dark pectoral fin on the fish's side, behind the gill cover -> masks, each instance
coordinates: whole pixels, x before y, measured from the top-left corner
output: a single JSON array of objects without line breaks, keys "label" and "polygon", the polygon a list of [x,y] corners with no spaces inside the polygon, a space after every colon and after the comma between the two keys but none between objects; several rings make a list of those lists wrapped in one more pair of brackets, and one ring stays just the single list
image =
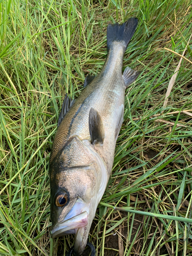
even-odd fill
[{"label": "dark pectoral fin on the fish's side, behind the gill cover", "polygon": [[92,144],[103,143],[104,140],[104,127],[99,113],[91,108],[89,113],[89,132]]}]

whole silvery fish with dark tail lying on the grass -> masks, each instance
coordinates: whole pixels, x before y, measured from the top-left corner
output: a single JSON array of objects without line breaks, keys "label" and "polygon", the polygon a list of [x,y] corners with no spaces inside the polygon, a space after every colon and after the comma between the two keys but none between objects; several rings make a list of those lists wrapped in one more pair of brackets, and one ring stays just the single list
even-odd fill
[{"label": "whole silvery fish with dark tail lying on the grass", "polygon": [[97,206],[108,184],[123,122],[125,89],[138,77],[123,56],[137,28],[132,17],[107,28],[108,55],[96,76],[88,75],[77,99],[65,96],[49,165],[51,237],[75,234],[81,255]]}]

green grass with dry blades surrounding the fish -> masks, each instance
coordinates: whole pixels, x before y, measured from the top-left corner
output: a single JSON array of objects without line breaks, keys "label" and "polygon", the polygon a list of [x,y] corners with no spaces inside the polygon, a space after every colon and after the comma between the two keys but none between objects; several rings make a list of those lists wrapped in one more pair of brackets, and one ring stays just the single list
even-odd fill
[{"label": "green grass with dry blades surrounding the fish", "polygon": [[50,238],[48,168],[59,111],[65,94],[78,97],[84,78],[102,68],[107,25],[133,16],[139,25],[123,69],[141,75],[126,90],[113,172],[89,241],[97,255],[192,255],[191,7],[188,0],[0,0],[0,255],[60,256],[73,245],[73,236]]}]

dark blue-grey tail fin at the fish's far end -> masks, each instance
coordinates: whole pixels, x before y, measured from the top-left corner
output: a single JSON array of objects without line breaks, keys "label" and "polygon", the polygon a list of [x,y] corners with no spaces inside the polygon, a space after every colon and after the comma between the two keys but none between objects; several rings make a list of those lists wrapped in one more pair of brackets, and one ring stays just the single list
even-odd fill
[{"label": "dark blue-grey tail fin at the fish's far end", "polygon": [[130,18],[122,25],[119,25],[118,23],[109,24],[106,32],[106,39],[108,41],[108,51],[111,48],[112,42],[114,41],[122,41],[126,50],[127,45],[129,44],[132,36],[135,33],[137,24],[137,18]]}]

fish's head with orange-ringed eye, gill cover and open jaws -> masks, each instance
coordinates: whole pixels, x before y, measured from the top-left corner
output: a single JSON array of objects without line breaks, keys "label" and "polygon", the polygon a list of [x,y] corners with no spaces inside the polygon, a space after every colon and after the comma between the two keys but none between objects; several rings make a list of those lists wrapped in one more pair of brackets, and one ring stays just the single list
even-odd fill
[{"label": "fish's head with orange-ringed eye, gill cover and open jaws", "polygon": [[76,138],[50,164],[52,238],[75,233],[77,255],[86,247],[98,205],[98,169],[95,158]]}]

